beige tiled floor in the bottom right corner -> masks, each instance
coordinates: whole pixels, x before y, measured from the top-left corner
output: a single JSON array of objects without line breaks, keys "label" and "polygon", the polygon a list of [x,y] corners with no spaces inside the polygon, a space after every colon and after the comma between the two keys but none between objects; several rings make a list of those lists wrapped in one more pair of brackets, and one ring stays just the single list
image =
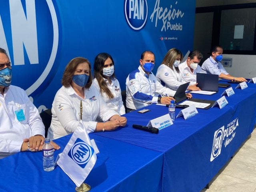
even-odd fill
[{"label": "beige tiled floor in the bottom right corner", "polygon": [[256,192],[256,129],[201,192]]}]

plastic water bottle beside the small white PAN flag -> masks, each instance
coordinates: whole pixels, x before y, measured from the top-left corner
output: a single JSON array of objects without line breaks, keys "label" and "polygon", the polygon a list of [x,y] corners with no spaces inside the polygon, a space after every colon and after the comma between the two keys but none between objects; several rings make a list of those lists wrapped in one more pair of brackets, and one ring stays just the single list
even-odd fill
[{"label": "plastic water bottle beside the small white PAN flag", "polygon": [[54,170],[54,149],[49,138],[45,138],[43,145],[43,167],[45,171]]}]

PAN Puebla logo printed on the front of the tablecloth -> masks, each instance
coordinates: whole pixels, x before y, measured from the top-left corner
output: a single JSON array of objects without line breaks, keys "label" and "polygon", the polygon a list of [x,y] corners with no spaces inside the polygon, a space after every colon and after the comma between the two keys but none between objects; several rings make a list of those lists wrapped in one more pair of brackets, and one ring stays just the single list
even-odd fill
[{"label": "PAN Puebla logo printed on the front of the tablecloth", "polygon": [[236,128],[239,126],[238,118],[234,119],[232,122],[227,124],[227,128],[222,126],[214,132],[214,138],[212,142],[212,153],[210,161],[212,162],[216,157],[220,155],[222,144],[224,142],[224,147],[228,146],[232,142],[233,138],[236,136]]}]

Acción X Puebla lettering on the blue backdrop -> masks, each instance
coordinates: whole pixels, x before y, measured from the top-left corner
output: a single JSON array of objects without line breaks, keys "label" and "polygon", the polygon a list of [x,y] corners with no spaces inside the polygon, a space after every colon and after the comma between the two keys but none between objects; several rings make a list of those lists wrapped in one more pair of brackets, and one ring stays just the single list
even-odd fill
[{"label": "Acci\u00f3n X Puebla lettering on the blue backdrop", "polygon": [[[184,12],[179,10],[176,6],[178,1],[175,2],[175,5],[170,5],[170,8],[160,7],[160,0],[156,0],[154,11],[150,15],[151,22],[154,22],[155,18],[155,27],[157,27],[158,20],[162,21],[161,31],[166,30],[178,30],[182,31],[182,24],[175,22],[175,19],[182,18]],[[177,9],[177,10],[176,10]]]}]

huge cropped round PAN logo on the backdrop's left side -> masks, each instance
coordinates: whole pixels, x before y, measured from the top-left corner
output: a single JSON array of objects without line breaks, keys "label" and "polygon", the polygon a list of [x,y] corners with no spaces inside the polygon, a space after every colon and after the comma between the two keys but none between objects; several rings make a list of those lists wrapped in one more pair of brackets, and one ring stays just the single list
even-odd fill
[{"label": "huge cropped round PAN logo on the backdrop's left side", "polygon": [[[1,1],[0,47],[12,62],[13,84],[32,94],[53,68],[58,20],[52,0]],[[48,77],[49,78],[49,77]]]}]

